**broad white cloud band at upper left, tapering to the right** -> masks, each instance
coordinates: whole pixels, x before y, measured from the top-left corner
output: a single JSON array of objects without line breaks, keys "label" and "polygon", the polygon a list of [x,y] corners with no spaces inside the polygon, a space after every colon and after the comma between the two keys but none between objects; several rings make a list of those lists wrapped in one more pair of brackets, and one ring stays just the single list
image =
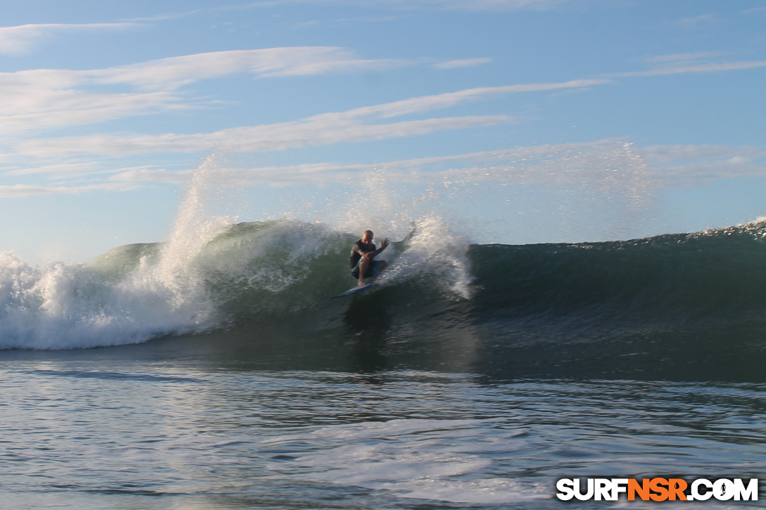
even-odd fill
[{"label": "broad white cloud band at upper left, tapering to the right", "polygon": [[[193,54],[102,70],[0,73],[0,134],[206,106],[210,100],[189,100],[178,94],[178,88],[228,74],[286,77],[379,70],[404,64],[401,60],[360,59],[339,47],[277,47]],[[93,90],[120,84],[138,90]]]}]

